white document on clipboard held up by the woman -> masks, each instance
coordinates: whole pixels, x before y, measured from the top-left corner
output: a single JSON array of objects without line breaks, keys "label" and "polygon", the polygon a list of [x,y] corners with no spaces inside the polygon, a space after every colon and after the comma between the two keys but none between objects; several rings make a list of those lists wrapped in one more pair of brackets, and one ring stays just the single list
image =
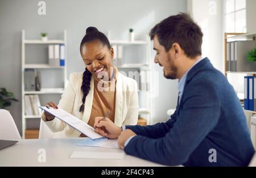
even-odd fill
[{"label": "white document on clipboard held up by the woman", "polygon": [[102,137],[100,134],[94,132],[93,127],[89,126],[84,121],[81,121],[79,118],[71,115],[71,113],[68,113],[61,108],[58,108],[58,109],[47,108],[47,107],[39,107],[39,108],[51,113],[51,115],[59,118],[61,121],[65,122],[66,124],[78,130],[79,132],[85,134],[90,139],[96,140],[96,139],[105,138],[105,137]]}]

